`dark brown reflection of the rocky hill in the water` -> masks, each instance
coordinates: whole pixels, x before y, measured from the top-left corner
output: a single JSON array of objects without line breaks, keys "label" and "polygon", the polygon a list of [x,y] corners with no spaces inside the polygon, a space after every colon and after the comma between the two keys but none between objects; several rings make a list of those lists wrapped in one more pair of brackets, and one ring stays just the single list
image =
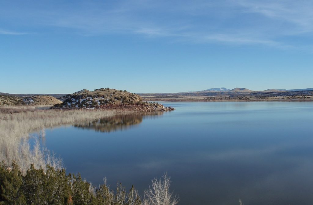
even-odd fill
[{"label": "dark brown reflection of the rocky hill in the water", "polygon": [[[153,113],[149,118],[157,117],[162,113]],[[146,115],[146,114],[145,114]],[[100,118],[89,122],[74,124],[76,128],[94,129],[99,132],[125,130],[142,122],[143,115],[116,115],[109,118]]]}]

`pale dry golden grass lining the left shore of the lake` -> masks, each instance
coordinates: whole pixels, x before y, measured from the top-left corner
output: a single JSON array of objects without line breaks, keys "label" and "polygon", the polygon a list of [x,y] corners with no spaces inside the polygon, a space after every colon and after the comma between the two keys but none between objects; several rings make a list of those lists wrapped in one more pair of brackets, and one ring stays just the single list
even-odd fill
[{"label": "pale dry golden grass lining the left shore of the lake", "polygon": [[[30,164],[36,168],[45,167],[49,163],[55,168],[61,168],[60,159],[53,154],[44,155],[39,144],[31,149],[28,143],[29,133],[38,132],[44,135],[44,129],[68,123],[110,117],[116,111],[111,110],[29,110],[29,107],[18,108],[19,113],[0,113],[0,161],[10,165],[13,161],[18,163],[25,172]],[[130,112],[120,112],[130,113]]]}]

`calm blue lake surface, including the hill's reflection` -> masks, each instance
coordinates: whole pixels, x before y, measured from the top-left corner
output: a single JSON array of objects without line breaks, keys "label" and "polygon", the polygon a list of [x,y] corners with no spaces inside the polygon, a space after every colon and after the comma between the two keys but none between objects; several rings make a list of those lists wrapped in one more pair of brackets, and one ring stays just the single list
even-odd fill
[{"label": "calm blue lake surface, including the hill's reflection", "polygon": [[171,176],[179,204],[313,204],[313,103],[162,102],[176,108],[46,130],[67,172],[141,193]]}]

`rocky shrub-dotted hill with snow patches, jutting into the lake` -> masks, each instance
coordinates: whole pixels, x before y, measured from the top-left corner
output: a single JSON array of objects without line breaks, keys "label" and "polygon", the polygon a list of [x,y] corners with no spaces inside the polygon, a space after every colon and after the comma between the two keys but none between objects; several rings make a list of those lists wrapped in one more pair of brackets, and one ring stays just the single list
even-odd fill
[{"label": "rocky shrub-dotted hill with snow patches, jutting into the lake", "polygon": [[63,103],[54,105],[55,108],[129,108],[153,110],[172,110],[158,103],[143,102],[142,98],[126,90],[100,88],[94,91],[80,90],[59,98]]}]

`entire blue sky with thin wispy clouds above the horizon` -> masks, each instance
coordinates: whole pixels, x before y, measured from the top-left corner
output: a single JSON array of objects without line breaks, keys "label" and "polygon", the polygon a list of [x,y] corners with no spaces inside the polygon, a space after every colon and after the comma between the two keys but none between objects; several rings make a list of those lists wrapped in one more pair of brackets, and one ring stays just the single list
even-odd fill
[{"label": "entire blue sky with thin wispy clouds above the horizon", "polygon": [[0,92],[311,88],[313,1],[0,1]]}]

